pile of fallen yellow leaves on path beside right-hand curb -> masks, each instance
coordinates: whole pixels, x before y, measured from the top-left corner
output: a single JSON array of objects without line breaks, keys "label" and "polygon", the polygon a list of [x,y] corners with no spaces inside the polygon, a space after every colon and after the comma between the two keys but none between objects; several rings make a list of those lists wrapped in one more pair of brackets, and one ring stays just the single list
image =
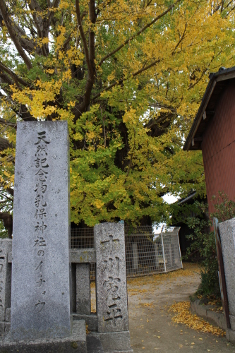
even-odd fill
[{"label": "pile of fallen yellow leaves on path beside right-hand curb", "polygon": [[[175,316],[171,318],[174,323],[184,323],[189,328],[193,328],[194,330],[199,330],[204,333],[212,333],[216,336],[225,335],[225,332],[221,328],[210,325],[210,323],[207,323],[207,321],[191,313],[189,301],[181,301],[179,303],[173,304],[169,308],[169,311],[175,313]],[[199,338],[199,340],[202,339]]]}]

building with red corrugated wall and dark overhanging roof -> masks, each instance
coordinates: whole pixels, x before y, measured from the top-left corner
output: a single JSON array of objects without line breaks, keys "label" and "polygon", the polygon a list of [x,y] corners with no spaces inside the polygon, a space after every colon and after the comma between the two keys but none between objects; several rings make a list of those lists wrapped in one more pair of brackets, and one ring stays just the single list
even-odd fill
[{"label": "building with red corrugated wall and dark overhanging roof", "polygon": [[235,66],[210,74],[183,150],[202,150],[209,213],[212,196],[235,200]]}]

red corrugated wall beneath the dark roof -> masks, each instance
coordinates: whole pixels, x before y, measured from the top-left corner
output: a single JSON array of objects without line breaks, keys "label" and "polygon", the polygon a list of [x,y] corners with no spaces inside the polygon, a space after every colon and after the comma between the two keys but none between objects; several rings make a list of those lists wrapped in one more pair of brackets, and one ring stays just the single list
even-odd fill
[{"label": "red corrugated wall beneath the dark roof", "polygon": [[219,98],[215,115],[203,134],[202,150],[211,213],[211,199],[218,191],[235,201],[235,85],[229,85]]}]

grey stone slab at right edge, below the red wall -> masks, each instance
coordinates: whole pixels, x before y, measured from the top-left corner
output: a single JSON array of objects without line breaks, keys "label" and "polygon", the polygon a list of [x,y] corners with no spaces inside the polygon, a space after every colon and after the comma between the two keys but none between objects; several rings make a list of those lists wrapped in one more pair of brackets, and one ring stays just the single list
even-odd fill
[{"label": "grey stone slab at right edge, below the red wall", "polygon": [[229,312],[235,316],[235,218],[218,224],[229,300]]}]

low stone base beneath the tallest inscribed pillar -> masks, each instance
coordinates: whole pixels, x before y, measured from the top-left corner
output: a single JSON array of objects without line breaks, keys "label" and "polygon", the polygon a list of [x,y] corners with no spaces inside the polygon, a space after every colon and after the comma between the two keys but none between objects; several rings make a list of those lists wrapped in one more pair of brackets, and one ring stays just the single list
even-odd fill
[{"label": "low stone base beneath the tallest inscribed pillar", "polygon": [[72,334],[64,338],[14,342],[9,333],[0,340],[0,353],[87,353],[85,321],[73,322]]}]

